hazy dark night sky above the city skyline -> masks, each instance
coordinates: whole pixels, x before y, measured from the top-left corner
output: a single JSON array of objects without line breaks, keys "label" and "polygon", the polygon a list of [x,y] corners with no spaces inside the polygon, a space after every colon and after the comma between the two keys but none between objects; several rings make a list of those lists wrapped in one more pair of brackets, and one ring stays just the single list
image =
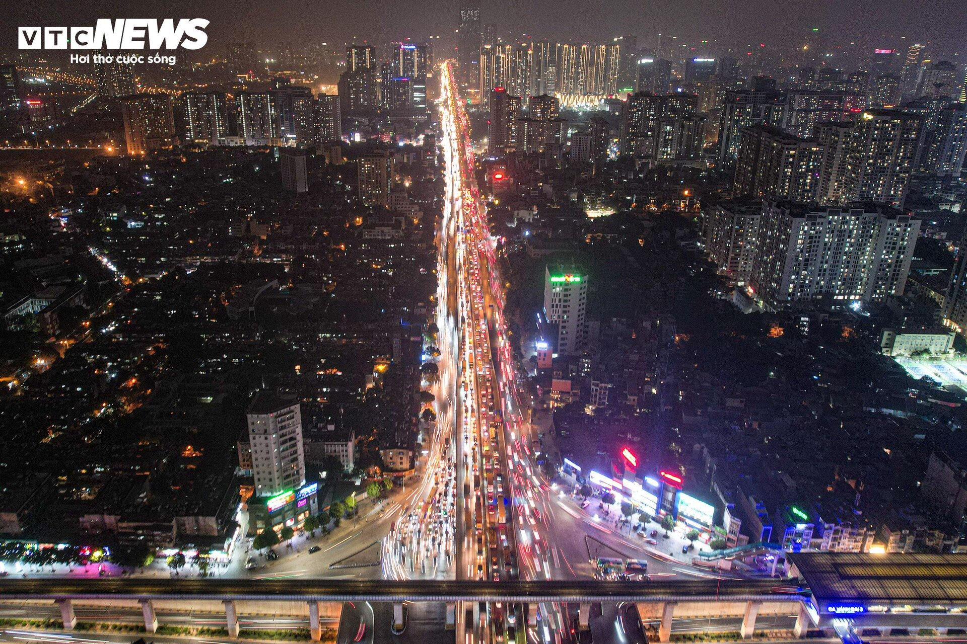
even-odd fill
[{"label": "hazy dark night sky above the city skyline", "polygon": [[[648,45],[659,32],[671,32],[686,42],[783,46],[819,27],[830,42],[896,45],[896,37],[906,36],[933,42],[949,56],[967,54],[967,0],[483,0],[482,13],[505,37],[513,31],[514,37],[604,41],[630,33]],[[210,46],[218,47],[240,40],[264,46],[431,35],[452,46],[457,0],[37,0],[5,3],[4,14],[4,48],[15,47],[17,25],[92,24],[97,17],[205,17],[212,20]]]}]

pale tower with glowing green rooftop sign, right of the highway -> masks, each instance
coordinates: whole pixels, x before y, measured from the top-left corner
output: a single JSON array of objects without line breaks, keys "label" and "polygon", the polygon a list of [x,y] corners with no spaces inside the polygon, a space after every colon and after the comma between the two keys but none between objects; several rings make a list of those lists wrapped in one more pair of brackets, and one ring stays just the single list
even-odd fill
[{"label": "pale tower with glowing green rooftop sign, right of the highway", "polygon": [[544,268],[543,314],[557,326],[558,355],[574,355],[584,346],[584,310],[588,276],[572,266]]}]

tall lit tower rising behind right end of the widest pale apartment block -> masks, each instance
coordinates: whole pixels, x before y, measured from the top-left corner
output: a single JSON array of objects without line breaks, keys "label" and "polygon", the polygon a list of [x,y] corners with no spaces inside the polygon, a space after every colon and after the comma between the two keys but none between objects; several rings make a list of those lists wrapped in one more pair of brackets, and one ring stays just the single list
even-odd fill
[{"label": "tall lit tower rising behind right end of the widest pale apartment block", "polygon": [[850,137],[840,203],[902,204],[917,160],[922,126],[923,117],[918,114],[866,110]]}]

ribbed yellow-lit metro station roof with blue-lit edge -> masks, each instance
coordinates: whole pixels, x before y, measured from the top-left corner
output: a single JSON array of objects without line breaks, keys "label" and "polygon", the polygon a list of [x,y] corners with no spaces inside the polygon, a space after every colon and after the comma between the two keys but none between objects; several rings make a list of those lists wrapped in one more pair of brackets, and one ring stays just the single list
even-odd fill
[{"label": "ribbed yellow-lit metro station roof with blue-lit edge", "polygon": [[823,609],[831,602],[967,603],[967,554],[790,552]]}]

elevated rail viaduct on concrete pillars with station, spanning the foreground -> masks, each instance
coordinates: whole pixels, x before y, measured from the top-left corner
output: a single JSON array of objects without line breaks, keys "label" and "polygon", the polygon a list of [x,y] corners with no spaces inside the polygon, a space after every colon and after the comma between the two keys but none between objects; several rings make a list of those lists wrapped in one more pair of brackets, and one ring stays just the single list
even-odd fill
[{"label": "elevated rail viaduct on concrete pillars with station, spanning the foreground", "polygon": [[[238,635],[239,607],[281,606],[308,612],[318,639],[320,618],[339,615],[342,602],[394,604],[395,624],[403,602],[447,604],[448,623],[464,603],[478,609],[488,602],[530,606],[536,619],[540,602],[579,604],[578,625],[586,628],[593,602],[633,602],[642,619],[659,622],[659,640],[668,641],[676,617],[741,615],[741,632],[750,637],[757,615],[796,614],[794,634],[810,628],[847,625],[863,629],[967,630],[967,555],[788,553],[793,580],[689,579],[681,581],[570,580],[357,580],[220,578],[44,578],[0,580],[0,602],[56,603],[66,629],[73,629],[73,602],[110,602],[138,606],[145,629],[158,628],[156,605],[189,612],[205,604],[224,610],[228,633]],[[252,607],[255,607],[253,609]],[[862,633],[861,633],[862,634]]]}]

